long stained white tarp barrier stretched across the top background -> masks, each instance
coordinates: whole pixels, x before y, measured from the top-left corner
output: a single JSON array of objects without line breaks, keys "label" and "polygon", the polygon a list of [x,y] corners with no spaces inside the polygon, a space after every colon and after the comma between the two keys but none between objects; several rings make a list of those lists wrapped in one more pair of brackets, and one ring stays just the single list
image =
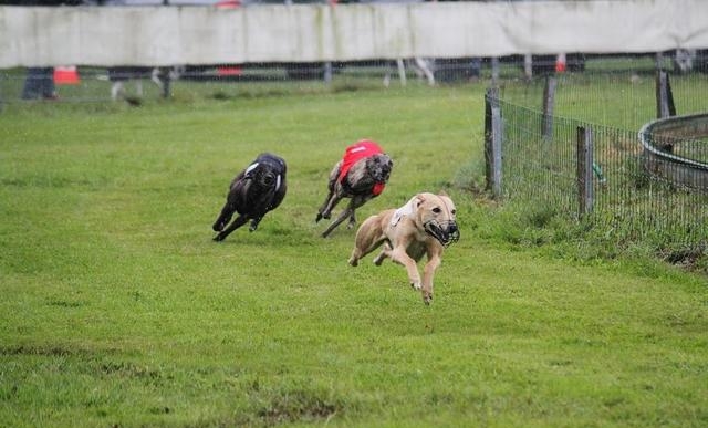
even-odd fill
[{"label": "long stained white tarp barrier stretched across the top background", "polygon": [[0,7],[0,67],[708,48],[706,0]]}]

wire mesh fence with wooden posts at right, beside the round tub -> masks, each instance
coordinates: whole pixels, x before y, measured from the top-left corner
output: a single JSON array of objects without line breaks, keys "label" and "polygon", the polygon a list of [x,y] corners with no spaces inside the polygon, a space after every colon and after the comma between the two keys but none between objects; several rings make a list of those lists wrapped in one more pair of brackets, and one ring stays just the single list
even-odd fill
[{"label": "wire mesh fence with wooden posts at right, beside the round tub", "polygon": [[504,82],[488,95],[488,116],[500,122],[487,122],[489,188],[512,203],[583,217],[621,240],[705,249],[708,116],[695,113],[708,111],[708,76],[673,74],[671,108],[694,115],[655,123],[656,76],[652,66]]}]

